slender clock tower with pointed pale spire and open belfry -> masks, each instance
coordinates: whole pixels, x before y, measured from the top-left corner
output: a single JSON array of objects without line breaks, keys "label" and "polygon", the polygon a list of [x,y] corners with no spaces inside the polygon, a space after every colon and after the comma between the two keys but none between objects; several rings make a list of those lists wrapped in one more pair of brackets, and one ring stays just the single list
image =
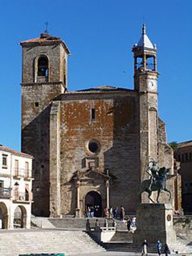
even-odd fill
[{"label": "slender clock tower with pointed pale spire and open belfry", "polygon": [[[156,46],[149,40],[145,24],[138,44],[132,48],[135,90],[139,93],[140,180],[149,179],[147,172],[150,159],[157,160],[157,58]],[[142,195],[141,203],[148,203]]]}]

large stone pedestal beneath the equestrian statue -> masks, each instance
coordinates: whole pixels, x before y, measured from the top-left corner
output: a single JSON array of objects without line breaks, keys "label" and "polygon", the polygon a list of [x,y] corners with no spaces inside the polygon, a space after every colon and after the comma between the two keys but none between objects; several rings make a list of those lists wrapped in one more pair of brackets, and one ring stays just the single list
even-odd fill
[{"label": "large stone pedestal beneath the equestrian statue", "polygon": [[170,204],[140,204],[136,214],[137,229],[133,244],[141,246],[146,239],[149,244],[160,240],[168,246],[176,243],[173,229],[173,208]]}]

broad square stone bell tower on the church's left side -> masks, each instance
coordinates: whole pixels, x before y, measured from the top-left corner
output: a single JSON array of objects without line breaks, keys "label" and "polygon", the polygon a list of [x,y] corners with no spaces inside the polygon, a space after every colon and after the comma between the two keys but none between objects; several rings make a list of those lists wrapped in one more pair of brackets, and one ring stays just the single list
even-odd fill
[{"label": "broad square stone bell tower on the church's left side", "polygon": [[49,216],[49,114],[68,83],[66,44],[43,33],[22,46],[22,151],[34,156],[32,212]]}]

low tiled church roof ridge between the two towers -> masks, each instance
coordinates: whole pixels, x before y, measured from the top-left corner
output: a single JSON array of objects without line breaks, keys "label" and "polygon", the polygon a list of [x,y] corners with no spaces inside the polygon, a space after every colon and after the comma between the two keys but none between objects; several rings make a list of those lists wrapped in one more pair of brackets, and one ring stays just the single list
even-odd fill
[{"label": "low tiled church roof ridge between the two towers", "polygon": [[84,89],[84,90],[75,90],[72,92],[67,92],[67,93],[72,93],[72,94],[78,94],[78,93],[105,93],[105,92],[130,92],[133,91],[131,89],[126,89],[126,88],[120,88],[120,87],[114,87],[110,85],[102,85],[98,87],[93,87],[89,89]]}]

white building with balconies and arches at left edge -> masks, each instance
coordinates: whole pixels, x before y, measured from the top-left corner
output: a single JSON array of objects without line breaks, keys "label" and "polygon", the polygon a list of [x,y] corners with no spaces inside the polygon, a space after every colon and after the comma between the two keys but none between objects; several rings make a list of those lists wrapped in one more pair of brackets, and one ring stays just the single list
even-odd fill
[{"label": "white building with balconies and arches at left edge", "polygon": [[30,228],[33,156],[0,145],[0,228]]}]

